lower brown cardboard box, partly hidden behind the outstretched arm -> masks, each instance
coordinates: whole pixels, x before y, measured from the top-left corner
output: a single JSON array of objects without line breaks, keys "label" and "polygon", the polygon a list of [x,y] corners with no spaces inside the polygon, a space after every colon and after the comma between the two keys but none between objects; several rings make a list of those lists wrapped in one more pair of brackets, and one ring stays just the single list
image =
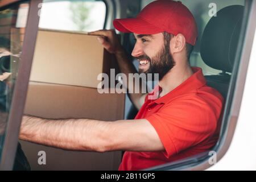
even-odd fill
[{"label": "lower brown cardboard box, partly hidden behind the outstretched arm", "polygon": [[[31,82],[24,114],[115,121],[123,119],[124,105],[125,94],[100,94],[94,88]],[[32,170],[117,170],[122,159],[121,151],[68,151],[31,142],[20,143]],[[46,152],[47,165],[38,164],[39,151]]]}]

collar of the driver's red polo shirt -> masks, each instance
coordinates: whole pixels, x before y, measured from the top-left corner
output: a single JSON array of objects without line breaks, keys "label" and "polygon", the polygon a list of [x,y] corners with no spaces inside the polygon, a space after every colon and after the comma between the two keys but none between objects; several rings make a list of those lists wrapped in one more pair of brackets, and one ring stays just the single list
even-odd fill
[{"label": "collar of the driver's red polo shirt", "polygon": [[[179,86],[177,86],[175,89],[171,90],[171,92],[167,93],[163,97],[160,97],[156,100],[150,100],[151,102],[155,102],[156,104],[166,103],[171,98],[174,98],[176,96],[179,96],[184,93],[188,93],[191,90],[196,90],[201,88],[206,84],[206,80],[204,78],[202,69],[199,67],[192,67],[192,71],[194,72],[191,77],[189,77],[187,80],[182,82]],[[156,85],[154,90],[152,90],[151,93],[148,95],[154,95],[158,94],[158,90],[162,90],[162,88],[159,85]]]}]

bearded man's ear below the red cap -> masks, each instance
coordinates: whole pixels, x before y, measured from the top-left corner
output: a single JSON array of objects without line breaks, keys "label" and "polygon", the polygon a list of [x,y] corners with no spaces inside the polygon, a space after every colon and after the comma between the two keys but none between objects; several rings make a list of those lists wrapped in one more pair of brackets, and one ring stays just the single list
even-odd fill
[{"label": "bearded man's ear below the red cap", "polygon": [[170,41],[171,53],[181,52],[185,49],[186,40],[182,34],[175,35]]}]

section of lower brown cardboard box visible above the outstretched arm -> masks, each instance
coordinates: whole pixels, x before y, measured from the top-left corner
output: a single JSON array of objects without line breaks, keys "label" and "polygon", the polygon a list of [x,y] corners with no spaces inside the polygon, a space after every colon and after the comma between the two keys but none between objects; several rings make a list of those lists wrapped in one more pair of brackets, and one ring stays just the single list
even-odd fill
[{"label": "section of lower brown cardboard box visible above the outstretched arm", "polygon": [[43,118],[123,119],[125,94],[100,94],[81,86],[30,82],[24,114]]}]

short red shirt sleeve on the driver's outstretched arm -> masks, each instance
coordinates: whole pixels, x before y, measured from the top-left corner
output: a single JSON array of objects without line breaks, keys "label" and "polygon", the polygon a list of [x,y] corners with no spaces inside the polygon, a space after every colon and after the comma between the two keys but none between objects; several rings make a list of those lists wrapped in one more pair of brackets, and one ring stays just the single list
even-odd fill
[{"label": "short red shirt sleeve on the driver's outstretched arm", "polygon": [[220,108],[200,98],[187,98],[165,104],[147,119],[158,133],[165,148],[164,155],[170,158],[189,147],[199,144],[213,135],[217,127]]}]

